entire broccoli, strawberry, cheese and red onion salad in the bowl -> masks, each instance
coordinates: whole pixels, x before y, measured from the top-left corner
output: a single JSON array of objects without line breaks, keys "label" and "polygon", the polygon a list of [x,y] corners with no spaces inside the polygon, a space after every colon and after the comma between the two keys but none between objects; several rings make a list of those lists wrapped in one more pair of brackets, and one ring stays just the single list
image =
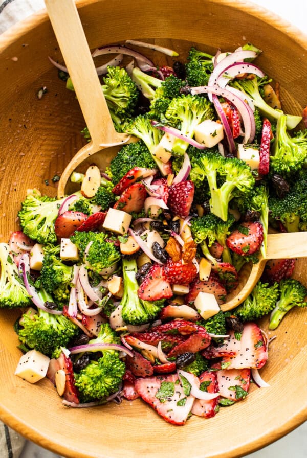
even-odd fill
[{"label": "entire broccoli, strawberry, cheese and red onion salad in the bowl", "polygon": [[250,43],[215,56],[191,48],[186,61],[153,48],[173,66],[126,45],[95,51],[116,55],[97,71],[131,143],[105,172],[73,172],[72,195],[28,192],[21,230],[0,243],[0,307],[21,309],[17,376],[47,376],[67,406],[140,397],[184,425],[244,400],[251,382],[268,386],[257,320],[275,330],[307,305],[295,260],[280,259],[223,311],[240,269],[265,256],[269,228],[307,229],[306,113],[283,112]]}]

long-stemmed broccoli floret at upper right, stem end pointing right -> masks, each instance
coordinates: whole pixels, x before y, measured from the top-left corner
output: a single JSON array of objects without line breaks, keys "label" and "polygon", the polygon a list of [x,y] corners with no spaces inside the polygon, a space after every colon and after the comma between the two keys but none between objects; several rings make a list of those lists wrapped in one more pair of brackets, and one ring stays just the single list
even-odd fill
[{"label": "long-stemmed broccoli floret at upper right, stem end pointing right", "polygon": [[[280,118],[280,116],[282,116],[283,112],[281,110],[272,108],[261,97],[261,94],[260,94],[261,87],[265,84],[268,84],[267,77],[265,78],[255,77],[253,79],[233,80],[230,83],[231,86],[234,86],[235,88],[239,90],[242,90],[245,94],[251,97],[255,106],[259,109],[262,116],[265,116],[270,121],[277,121]],[[286,121],[287,128],[294,129],[294,127],[296,127],[301,120],[302,120],[301,116],[294,116],[292,114],[287,114],[287,121]]]}]

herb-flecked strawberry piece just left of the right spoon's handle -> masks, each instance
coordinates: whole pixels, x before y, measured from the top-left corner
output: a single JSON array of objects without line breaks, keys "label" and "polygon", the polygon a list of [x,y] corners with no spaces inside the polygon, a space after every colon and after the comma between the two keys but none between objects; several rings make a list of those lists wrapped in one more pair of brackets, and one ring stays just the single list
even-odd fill
[{"label": "herb-flecked strawberry piece just left of the right spoon's handle", "polygon": [[264,240],[264,228],[258,221],[245,221],[226,239],[226,244],[241,256],[256,253]]}]

